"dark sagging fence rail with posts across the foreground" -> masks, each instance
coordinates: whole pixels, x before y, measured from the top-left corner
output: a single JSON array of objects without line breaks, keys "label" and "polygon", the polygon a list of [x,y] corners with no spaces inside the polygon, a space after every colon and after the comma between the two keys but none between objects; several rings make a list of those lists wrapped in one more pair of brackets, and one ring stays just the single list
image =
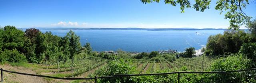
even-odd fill
[{"label": "dark sagging fence rail with posts across the foreground", "polygon": [[4,79],[3,79],[3,71],[4,71],[4,72],[9,72],[9,73],[21,74],[21,75],[30,75],[30,76],[36,76],[36,77],[47,77],[47,78],[63,79],[63,80],[90,80],[90,79],[94,79],[95,83],[97,83],[97,79],[102,79],[102,78],[178,74],[178,83],[180,83],[180,73],[198,73],[198,74],[202,74],[202,73],[233,73],[233,72],[256,70],[256,68],[244,69],[244,70],[236,70],[236,71],[209,71],[209,72],[207,72],[207,71],[203,71],[203,72],[178,71],[178,72],[168,72],[168,73],[128,74],[128,75],[112,75],[112,76],[88,77],[88,78],[62,78],[62,77],[52,77],[52,76],[46,76],[46,75],[36,75],[36,74],[29,74],[29,73],[20,73],[20,72],[15,72],[15,71],[4,70],[2,68],[0,70],[1,70],[1,81],[0,82],[4,81]]}]

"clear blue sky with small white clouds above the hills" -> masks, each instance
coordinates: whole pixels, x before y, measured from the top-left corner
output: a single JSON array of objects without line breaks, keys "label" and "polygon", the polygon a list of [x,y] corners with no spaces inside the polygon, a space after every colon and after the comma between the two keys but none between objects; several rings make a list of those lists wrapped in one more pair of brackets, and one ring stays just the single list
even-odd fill
[{"label": "clear blue sky with small white clouds above the hills", "polygon": [[[194,0],[191,0],[194,4]],[[256,4],[244,12],[256,18]],[[16,28],[228,28],[229,20],[215,10],[143,4],[140,0],[0,0],[0,26]],[[242,26],[241,28],[244,28]]]}]

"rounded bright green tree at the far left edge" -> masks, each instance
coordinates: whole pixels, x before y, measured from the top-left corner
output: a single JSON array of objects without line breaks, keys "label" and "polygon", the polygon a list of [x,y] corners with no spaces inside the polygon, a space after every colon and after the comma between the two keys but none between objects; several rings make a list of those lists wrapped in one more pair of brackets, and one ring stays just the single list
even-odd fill
[{"label": "rounded bright green tree at the far left edge", "polygon": [[5,26],[0,29],[0,62],[26,61],[24,55],[24,32],[14,26]]}]

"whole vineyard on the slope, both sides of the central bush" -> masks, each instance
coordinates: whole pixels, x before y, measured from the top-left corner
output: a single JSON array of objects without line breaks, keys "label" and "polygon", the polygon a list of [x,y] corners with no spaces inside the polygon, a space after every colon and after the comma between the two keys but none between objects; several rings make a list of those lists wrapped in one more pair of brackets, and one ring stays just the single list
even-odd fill
[{"label": "whole vineyard on the slope, both sides of the central bush", "polygon": [[[176,59],[175,61],[134,61],[130,65],[135,67],[134,74],[156,73],[159,70],[181,71],[186,67],[188,71],[205,71],[215,59],[205,56]],[[91,77],[95,76],[100,69],[107,68],[108,59],[82,59],[76,61],[57,62],[51,65],[40,65],[41,75],[54,77]],[[49,79],[52,80],[52,79]],[[78,83],[80,82],[77,80]]]}]

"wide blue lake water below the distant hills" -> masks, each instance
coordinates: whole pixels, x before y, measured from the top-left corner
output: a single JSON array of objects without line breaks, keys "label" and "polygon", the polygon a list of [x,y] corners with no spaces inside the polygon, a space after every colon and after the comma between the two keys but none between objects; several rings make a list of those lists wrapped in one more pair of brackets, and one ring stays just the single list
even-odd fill
[{"label": "wide blue lake water below the distant hills", "polygon": [[[66,36],[70,30],[40,30],[54,35]],[[94,51],[122,49],[132,52],[150,52],[174,49],[184,51],[187,47],[200,49],[210,35],[223,34],[224,30],[73,30],[84,45],[91,43]],[[87,40],[86,40],[87,39]]]}]

